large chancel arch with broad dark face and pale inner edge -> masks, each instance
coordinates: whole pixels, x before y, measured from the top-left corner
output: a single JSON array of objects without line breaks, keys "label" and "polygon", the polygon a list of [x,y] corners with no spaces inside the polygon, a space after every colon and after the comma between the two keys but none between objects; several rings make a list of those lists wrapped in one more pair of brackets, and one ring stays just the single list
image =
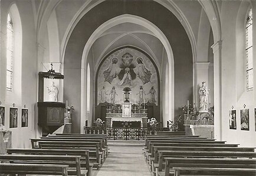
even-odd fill
[{"label": "large chancel arch with broad dark face and pale inner edge", "polygon": [[[168,55],[170,63],[169,75],[170,77],[172,77],[172,79],[170,79],[172,80],[172,83],[170,83],[172,87],[172,94],[174,95],[175,89],[182,89],[182,92],[179,91],[175,93],[176,95],[173,96],[173,102],[170,103],[170,107],[171,109],[173,109],[172,113],[174,114],[174,116],[178,116],[180,111],[179,107],[185,103],[182,100],[183,98],[192,101],[193,56],[191,43],[189,42],[189,38],[187,33],[185,32],[185,29],[183,28],[182,24],[180,24],[179,20],[173,15],[172,12],[170,12],[168,9],[158,4],[157,2],[147,1],[146,4],[140,3],[142,2],[101,2],[101,4],[95,6],[90,11],[88,11],[83,16],[83,18],[80,19],[76,27],[73,29],[73,32],[71,33],[70,38],[68,39],[64,56],[64,99],[69,99],[71,102],[74,101],[74,106],[78,107],[78,109],[74,113],[74,116],[84,118],[82,112],[83,110],[80,107],[81,99],[74,99],[70,91],[71,89],[73,90],[75,88],[78,92],[82,92],[80,82],[81,79],[74,80],[72,79],[72,77],[81,77],[81,70],[86,68],[84,67],[84,63],[86,63],[84,61],[87,58],[87,53],[90,51],[90,45],[93,44],[93,40],[97,39],[95,36],[93,36],[94,34],[96,35],[95,31],[97,31],[100,25],[104,22],[114,19],[116,16],[121,17],[120,15],[132,15],[136,16],[137,19],[146,19],[146,21],[150,22],[151,25],[149,25],[149,23],[145,23],[145,21],[143,22],[142,20],[140,20],[139,22],[143,22],[143,25],[145,24],[146,28],[149,27],[151,29],[154,29],[156,33],[159,33],[159,31],[161,31],[162,34],[164,34],[158,35],[157,37],[162,41],[163,46],[165,46],[166,53]],[[137,8],[139,8],[137,9],[137,11],[133,11],[134,5],[136,5]],[[124,6],[126,6],[125,9],[123,8]],[[107,9],[109,9],[108,7],[114,7],[116,11],[107,11]],[[154,9],[152,9],[153,7]],[[159,19],[165,19],[165,23],[161,23],[154,18],[151,12],[155,11],[156,9],[160,12]],[[93,15],[95,13],[99,13],[99,15]],[[166,18],[166,16],[169,17]],[[133,21],[136,18],[133,18]],[[118,20],[119,19],[116,19],[116,21]],[[97,23],[95,23],[96,21]],[[166,25],[166,23],[172,25],[169,26]],[[87,28],[87,26],[90,26],[90,28]],[[156,30],[156,28],[152,28],[155,26],[159,30]],[[179,33],[176,33],[175,31],[179,31]],[[175,38],[173,38],[173,32],[176,33]],[[84,40],[78,40],[78,38],[83,38]],[[170,46],[172,46],[172,48],[170,48]],[[184,50],[186,50],[186,52],[183,52]],[[172,61],[172,58],[173,60],[175,60],[175,62]],[[183,63],[186,64],[184,65]],[[177,69],[171,69],[172,66],[175,67],[175,65]],[[171,74],[172,72],[173,74]],[[183,79],[184,82],[178,82],[178,79]],[[76,87],[74,87],[74,85]],[[81,97],[83,99],[83,95],[81,95]],[[175,101],[176,103],[174,104]],[[74,125],[80,126],[80,123],[81,119],[76,118],[76,121],[74,121]]]}]

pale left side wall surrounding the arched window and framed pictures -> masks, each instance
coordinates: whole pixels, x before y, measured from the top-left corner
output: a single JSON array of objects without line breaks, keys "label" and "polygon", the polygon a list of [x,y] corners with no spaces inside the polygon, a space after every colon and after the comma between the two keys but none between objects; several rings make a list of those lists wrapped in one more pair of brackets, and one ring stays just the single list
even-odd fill
[{"label": "pale left side wall surrounding the arched window and framed pictures", "polygon": [[[19,57],[20,67],[20,82],[17,86],[14,80],[15,89],[19,89],[19,96],[15,100],[8,99],[6,101],[6,19],[11,4],[16,3],[17,9],[21,19],[22,33],[22,50]],[[29,1],[1,1],[1,83],[0,83],[0,101],[2,106],[5,106],[5,127],[12,131],[12,147],[22,148],[31,147],[29,138],[35,137],[35,123],[34,123],[34,105],[37,102],[37,50],[36,50],[36,35],[34,28],[34,16],[32,12],[32,5]],[[16,47],[16,46],[15,46]],[[17,63],[15,63],[17,64]],[[16,69],[16,68],[14,68]],[[14,70],[14,72],[17,70]],[[15,83],[16,82],[16,83]],[[18,103],[16,103],[18,102]],[[18,107],[18,127],[9,128],[9,107],[12,103]],[[28,127],[21,127],[21,108],[28,109]]]}]

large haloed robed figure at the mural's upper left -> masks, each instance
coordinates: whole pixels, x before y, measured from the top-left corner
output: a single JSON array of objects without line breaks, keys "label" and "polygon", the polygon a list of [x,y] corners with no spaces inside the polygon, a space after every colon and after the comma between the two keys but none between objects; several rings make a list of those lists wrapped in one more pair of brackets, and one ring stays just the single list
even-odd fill
[{"label": "large haloed robed figure at the mural's upper left", "polygon": [[113,81],[114,78],[118,75],[120,72],[119,67],[117,66],[118,59],[114,57],[112,59],[112,63],[109,65],[109,68],[107,70],[104,70],[103,76],[105,78],[105,82],[111,82]]}]

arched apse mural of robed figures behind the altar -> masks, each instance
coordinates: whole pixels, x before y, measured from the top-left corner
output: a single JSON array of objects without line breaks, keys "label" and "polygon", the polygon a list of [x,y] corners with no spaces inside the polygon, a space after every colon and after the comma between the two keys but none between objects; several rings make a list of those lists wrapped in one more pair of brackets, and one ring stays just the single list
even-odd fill
[{"label": "arched apse mural of robed figures behind the altar", "polygon": [[123,48],[112,53],[99,68],[97,104],[123,102],[123,88],[130,87],[132,103],[158,105],[158,80],[152,61],[142,52]]}]

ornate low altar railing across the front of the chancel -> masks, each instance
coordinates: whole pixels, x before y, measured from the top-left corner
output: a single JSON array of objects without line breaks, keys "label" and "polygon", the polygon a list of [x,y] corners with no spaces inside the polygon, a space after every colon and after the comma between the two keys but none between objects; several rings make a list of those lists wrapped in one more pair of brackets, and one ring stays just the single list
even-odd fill
[{"label": "ornate low altar railing across the front of the chancel", "polygon": [[108,134],[112,140],[143,140],[146,134],[155,134],[155,131],[170,131],[170,128],[84,127],[85,134]]}]

